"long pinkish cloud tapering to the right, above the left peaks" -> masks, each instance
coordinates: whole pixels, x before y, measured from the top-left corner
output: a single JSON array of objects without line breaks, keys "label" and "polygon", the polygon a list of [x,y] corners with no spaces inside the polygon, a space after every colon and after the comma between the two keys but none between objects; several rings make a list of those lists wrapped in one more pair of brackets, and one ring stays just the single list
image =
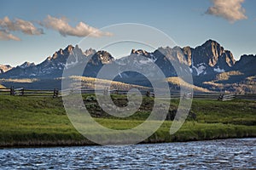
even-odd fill
[{"label": "long pinkish cloud tapering to the right, above the left peaks", "polygon": [[79,22],[75,27],[70,26],[67,22],[67,18],[55,18],[48,15],[43,22],[40,22],[41,26],[59,31],[63,37],[75,36],[75,37],[103,37],[112,36],[109,32],[102,32],[95,27],[88,26],[84,22]]}]

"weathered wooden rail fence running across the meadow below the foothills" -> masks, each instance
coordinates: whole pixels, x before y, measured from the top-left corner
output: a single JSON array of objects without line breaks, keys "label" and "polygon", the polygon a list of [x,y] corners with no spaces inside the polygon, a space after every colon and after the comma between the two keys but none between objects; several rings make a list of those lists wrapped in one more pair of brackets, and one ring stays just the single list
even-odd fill
[{"label": "weathered wooden rail fence running across the meadow below the foothills", "polygon": [[[33,96],[33,97],[52,97],[57,98],[65,96],[68,94],[127,94],[127,90],[113,89],[108,90],[108,88],[93,90],[93,89],[65,89],[59,90],[57,88],[42,90],[42,89],[25,89],[25,88],[0,88],[0,95],[13,95],[13,96]],[[141,94],[145,96],[154,97],[154,92],[141,91]],[[196,93],[196,94],[178,94],[171,93],[171,96],[166,94],[158,94],[158,96],[163,98],[171,99],[218,99],[221,101],[231,100],[231,99],[253,99],[256,100],[256,94],[219,94],[219,93]]]}]

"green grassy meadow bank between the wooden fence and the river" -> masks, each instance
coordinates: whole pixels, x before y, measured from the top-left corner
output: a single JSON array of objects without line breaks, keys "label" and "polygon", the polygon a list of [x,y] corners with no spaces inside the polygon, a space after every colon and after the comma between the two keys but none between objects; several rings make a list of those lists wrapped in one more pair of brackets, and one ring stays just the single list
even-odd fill
[{"label": "green grassy meadow bank between the wooden fence and the river", "polygon": [[[93,95],[84,104],[96,122],[113,129],[129,129],[144,122],[154,99],[145,97],[139,111],[125,118],[109,116]],[[125,95],[113,95],[125,105]],[[167,120],[142,143],[256,137],[256,102],[241,99],[217,101],[194,99],[187,121],[170,135],[178,100],[172,100]],[[79,134],[69,121],[61,98],[0,96],[0,147],[66,146],[94,144]],[[96,132],[95,132],[96,133]]]}]

